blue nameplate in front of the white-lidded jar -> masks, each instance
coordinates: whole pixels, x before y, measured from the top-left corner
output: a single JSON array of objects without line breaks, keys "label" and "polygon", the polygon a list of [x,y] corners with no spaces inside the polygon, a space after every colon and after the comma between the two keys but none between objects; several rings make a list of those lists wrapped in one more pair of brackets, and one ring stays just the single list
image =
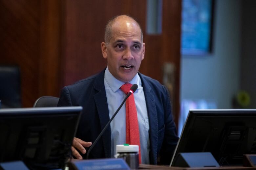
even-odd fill
[{"label": "blue nameplate in front of the white-lidded jar", "polygon": [[[71,166],[70,166],[71,165]],[[123,159],[92,159],[92,160],[72,160],[69,164],[70,170],[100,170],[115,169],[129,170],[130,167]]]}]

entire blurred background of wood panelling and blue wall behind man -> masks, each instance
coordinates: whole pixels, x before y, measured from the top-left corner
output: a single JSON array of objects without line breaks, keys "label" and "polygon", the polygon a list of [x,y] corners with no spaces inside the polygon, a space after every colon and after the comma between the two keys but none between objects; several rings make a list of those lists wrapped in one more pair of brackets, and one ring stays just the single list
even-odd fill
[{"label": "entire blurred background of wood panelling and blue wall behind man", "polygon": [[[255,0],[0,0],[0,100],[32,107],[106,67],[106,22],[128,14],[146,44],[140,72],[189,109],[256,107]],[[180,127],[181,126],[181,127]]]}]

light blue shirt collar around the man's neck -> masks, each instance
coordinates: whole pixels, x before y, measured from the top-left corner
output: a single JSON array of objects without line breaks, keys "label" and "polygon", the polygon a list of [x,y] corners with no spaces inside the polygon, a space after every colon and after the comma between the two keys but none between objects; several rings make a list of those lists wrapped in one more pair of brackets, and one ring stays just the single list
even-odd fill
[{"label": "light blue shirt collar around the man's neck", "polygon": [[[104,79],[106,80],[106,82],[108,83],[110,89],[113,92],[116,92],[123,84],[125,84],[125,82],[122,82],[120,80],[117,80],[108,70],[108,67],[105,70],[104,73]],[[140,77],[138,75],[138,73],[133,77],[133,79],[129,82],[131,84],[137,84],[139,87],[141,87],[141,80]],[[138,88],[139,88],[138,87]],[[136,91],[137,92],[137,91]],[[136,93],[135,92],[135,93]]]}]

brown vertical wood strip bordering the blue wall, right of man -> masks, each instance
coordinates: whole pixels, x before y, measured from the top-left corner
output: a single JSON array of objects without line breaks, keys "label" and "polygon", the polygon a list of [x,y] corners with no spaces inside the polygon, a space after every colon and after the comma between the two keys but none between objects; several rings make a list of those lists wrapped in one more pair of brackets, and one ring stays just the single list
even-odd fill
[{"label": "brown vertical wood strip bordering the blue wall, right of man", "polygon": [[162,63],[171,62],[175,66],[172,104],[175,123],[180,114],[180,49],[181,49],[181,1],[163,1]]}]

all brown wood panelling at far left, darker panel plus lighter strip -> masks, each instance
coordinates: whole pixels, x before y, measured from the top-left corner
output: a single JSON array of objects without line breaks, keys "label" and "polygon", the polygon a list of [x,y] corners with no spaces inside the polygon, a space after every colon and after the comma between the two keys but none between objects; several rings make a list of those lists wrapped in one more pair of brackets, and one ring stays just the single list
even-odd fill
[{"label": "all brown wood panelling at far left, darker panel plus lighter strip", "polygon": [[0,0],[0,64],[18,65],[23,107],[58,96],[60,0]]}]

